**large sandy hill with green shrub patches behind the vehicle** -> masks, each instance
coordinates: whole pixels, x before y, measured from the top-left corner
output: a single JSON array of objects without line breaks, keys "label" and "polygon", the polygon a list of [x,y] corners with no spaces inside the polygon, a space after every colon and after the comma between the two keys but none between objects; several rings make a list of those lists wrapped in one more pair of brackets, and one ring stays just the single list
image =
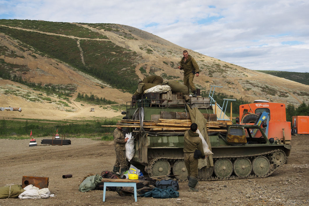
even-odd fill
[{"label": "large sandy hill with green shrub patches behind the vehicle", "polygon": [[0,19],[0,106],[23,106],[22,115],[32,119],[117,116],[121,111],[114,104],[124,108],[146,76],[182,82],[177,66],[183,50],[200,66],[194,83],[206,96],[218,85],[220,97],[246,102],[266,99],[297,107],[309,101],[308,85],[205,56],[127,25]]}]

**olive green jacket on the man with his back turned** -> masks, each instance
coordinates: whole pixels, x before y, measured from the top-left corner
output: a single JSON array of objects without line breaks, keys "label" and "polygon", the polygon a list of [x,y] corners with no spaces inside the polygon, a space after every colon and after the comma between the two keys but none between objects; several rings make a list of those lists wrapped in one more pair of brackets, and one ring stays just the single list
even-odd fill
[{"label": "olive green jacket on the man with his back turned", "polygon": [[184,153],[194,153],[195,150],[200,150],[204,156],[203,143],[199,135],[191,130],[184,132]]}]

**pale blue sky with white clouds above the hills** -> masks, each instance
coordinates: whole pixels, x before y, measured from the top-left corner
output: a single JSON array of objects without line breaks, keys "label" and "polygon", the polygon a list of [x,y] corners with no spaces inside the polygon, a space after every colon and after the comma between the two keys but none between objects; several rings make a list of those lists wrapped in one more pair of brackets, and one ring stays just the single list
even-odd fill
[{"label": "pale blue sky with white clouds above the hills", "polygon": [[291,72],[309,72],[308,11],[308,0],[0,0],[0,19],[124,24],[248,69]]}]

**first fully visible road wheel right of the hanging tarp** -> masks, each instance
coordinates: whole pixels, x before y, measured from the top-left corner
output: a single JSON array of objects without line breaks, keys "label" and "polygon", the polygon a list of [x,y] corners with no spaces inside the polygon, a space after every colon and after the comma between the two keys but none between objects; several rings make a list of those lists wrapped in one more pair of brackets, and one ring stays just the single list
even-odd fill
[{"label": "first fully visible road wheel right of the hanging tarp", "polygon": [[231,176],[233,172],[233,163],[230,159],[218,159],[214,163],[214,173],[219,179],[226,179]]}]

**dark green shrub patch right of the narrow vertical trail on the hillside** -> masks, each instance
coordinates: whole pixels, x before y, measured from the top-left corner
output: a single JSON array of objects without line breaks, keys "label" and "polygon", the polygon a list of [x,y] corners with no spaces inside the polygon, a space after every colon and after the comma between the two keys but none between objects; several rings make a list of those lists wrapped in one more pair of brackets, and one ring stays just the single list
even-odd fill
[{"label": "dark green shrub patch right of the narrow vertical trail on the hillside", "polygon": [[80,40],[88,72],[108,84],[134,93],[138,76],[135,73],[137,55],[111,41]]}]

